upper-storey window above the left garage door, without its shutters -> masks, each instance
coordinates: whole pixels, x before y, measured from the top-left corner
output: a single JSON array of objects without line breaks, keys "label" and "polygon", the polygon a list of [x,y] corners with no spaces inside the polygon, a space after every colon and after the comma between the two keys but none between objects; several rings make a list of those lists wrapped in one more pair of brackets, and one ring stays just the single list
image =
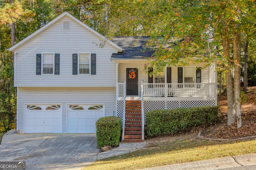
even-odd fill
[{"label": "upper-storey window above the left garage door, without its shutters", "polygon": [[54,57],[53,53],[43,53],[42,66],[43,74],[53,74]]}]

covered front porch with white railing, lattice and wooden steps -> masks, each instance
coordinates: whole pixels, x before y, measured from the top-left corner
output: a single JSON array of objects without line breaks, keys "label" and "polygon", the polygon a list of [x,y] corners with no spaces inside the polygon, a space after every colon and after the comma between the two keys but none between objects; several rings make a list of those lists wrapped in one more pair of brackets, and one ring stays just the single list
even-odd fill
[{"label": "covered front porch with white railing, lattice and wooden steps", "polygon": [[144,140],[146,113],[150,110],[216,105],[214,67],[198,71],[198,66],[189,67],[190,77],[184,74],[185,67],[175,66],[166,68],[160,76],[150,77],[142,63],[117,63],[116,116],[123,121],[122,141]]}]

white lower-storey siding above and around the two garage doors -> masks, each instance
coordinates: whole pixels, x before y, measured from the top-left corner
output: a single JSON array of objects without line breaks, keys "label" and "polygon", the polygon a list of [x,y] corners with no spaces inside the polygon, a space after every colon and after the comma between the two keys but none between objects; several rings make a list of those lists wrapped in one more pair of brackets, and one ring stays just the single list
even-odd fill
[{"label": "white lower-storey siding above and around the two garage doors", "polygon": [[24,105],[61,104],[62,132],[67,128],[68,104],[104,104],[105,116],[113,116],[116,110],[115,87],[19,87],[18,129],[24,132]]}]

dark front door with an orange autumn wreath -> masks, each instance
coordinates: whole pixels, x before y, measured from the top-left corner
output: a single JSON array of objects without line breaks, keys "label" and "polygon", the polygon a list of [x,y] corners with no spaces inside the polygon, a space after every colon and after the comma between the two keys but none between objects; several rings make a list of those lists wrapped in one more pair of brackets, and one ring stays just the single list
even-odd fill
[{"label": "dark front door with an orange autumn wreath", "polygon": [[137,68],[126,68],[126,95],[138,96],[138,75]]}]

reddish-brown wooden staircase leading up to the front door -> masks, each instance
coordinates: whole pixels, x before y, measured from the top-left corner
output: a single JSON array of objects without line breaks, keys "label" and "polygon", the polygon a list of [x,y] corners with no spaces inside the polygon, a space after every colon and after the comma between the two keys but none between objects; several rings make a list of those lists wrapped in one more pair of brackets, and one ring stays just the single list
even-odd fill
[{"label": "reddish-brown wooden staircase leading up to the front door", "polygon": [[124,140],[122,142],[144,142],[141,119],[141,101],[125,101]]}]

